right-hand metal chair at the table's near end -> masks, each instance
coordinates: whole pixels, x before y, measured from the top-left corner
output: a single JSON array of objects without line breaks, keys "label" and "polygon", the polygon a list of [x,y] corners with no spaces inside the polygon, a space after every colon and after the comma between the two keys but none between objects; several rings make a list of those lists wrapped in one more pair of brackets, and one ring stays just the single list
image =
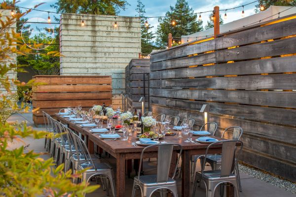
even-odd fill
[{"label": "right-hand metal chair at the table's near end", "polygon": [[[241,144],[240,149],[237,149],[236,143],[238,142]],[[218,143],[222,143],[221,169],[205,171],[204,169],[206,165],[206,160],[204,160],[201,171],[195,173],[192,197],[195,196],[196,186],[200,183],[200,179],[204,180],[207,190],[207,197],[214,197],[216,188],[222,183],[231,183],[235,187],[236,196],[239,197],[237,176],[233,172],[235,167],[232,167],[232,162],[235,161],[234,166],[237,165],[239,154],[243,148],[243,142],[240,140],[225,140],[213,142],[208,146],[205,157],[208,156],[209,150]]]}]

